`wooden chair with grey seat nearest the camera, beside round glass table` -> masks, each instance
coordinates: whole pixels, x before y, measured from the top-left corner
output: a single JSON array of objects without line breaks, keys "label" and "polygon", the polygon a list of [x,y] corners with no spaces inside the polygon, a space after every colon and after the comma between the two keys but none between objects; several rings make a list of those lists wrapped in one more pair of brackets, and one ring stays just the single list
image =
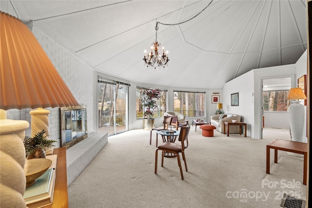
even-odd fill
[{"label": "wooden chair with grey seat nearest the camera, beside round glass table", "polygon": [[[159,145],[159,147],[157,148],[156,153],[155,153],[155,155],[156,155],[155,156],[155,174],[157,174],[158,150],[162,151],[161,167],[163,167],[163,165],[164,165],[165,151],[172,152],[172,153],[176,154],[176,156],[177,156],[177,163],[178,163],[178,166],[180,168],[181,178],[182,178],[182,180],[184,180],[179,152],[181,152],[181,154],[182,154],[182,158],[184,160],[184,165],[185,165],[185,170],[187,171],[187,165],[186,165],[186,158],[185,158],[184,150],[189,145],[189,142],[188,142],[189,132],[190,132],[190,126],[189,125],[182,126],[181,130],[180,130],[180,134],[179,134],[179,141],[181,142],[181,144],[172,143],[172,142],[164,142],[163,144]],[[186,141],[186,145],[185,145],[185,141]]]}]

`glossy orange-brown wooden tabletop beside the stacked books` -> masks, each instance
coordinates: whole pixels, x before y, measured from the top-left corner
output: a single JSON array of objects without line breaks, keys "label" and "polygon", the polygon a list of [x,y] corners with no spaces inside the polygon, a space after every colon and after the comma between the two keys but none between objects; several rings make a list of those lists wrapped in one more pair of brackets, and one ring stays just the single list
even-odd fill
[{"label": "glossy orange-brown wooden tabletop beside the stacked books", "polygon": [[44,208],[68,208],[66,148],[55,148],[53,154],[58,155],[53,204]]}]

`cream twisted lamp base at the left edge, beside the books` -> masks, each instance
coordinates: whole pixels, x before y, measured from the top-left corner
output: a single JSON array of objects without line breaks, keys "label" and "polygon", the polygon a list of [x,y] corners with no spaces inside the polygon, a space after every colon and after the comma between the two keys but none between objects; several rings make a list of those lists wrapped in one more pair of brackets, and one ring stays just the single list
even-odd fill
[{"label": "cream twisted lamp base at the left edge, beside the books", "polygon": [[6,119],[0,109],[0,201],[1,207],[26,208],[25,146],[27,121]]}]

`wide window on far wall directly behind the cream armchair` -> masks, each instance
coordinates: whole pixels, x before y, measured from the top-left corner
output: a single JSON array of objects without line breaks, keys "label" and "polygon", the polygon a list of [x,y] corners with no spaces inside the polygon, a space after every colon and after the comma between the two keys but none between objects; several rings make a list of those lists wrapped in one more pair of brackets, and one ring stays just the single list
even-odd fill
[{"label": "wide window on far wall directly behind the cream armchair", "polygon": [[174,111],[187,117],[205,116],[205,93],[174,91]]}]

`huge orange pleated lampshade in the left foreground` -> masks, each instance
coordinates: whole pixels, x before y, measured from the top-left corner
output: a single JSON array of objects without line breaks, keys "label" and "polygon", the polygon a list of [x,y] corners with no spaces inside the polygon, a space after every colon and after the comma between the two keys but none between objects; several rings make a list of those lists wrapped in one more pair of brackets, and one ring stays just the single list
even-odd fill
[{"label": "huge orange pleated lampshade in the left foreground", "polygon": [[79,106],[28,27],[0,14],[0,109]]}]

